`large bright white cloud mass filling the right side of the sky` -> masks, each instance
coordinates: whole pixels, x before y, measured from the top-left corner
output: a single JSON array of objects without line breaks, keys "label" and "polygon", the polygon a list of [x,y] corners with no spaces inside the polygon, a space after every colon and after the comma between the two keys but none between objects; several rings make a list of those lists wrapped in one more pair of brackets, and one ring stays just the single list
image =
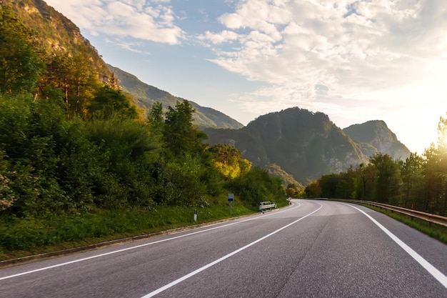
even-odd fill
[{"label": "large bright white cloud mass filling the right side of the sky", "polygon": [[[438,121],[447,109],[445,0],[237,3],[219,21],[238,40],[208,36],[211,61],[268,83],[234,99],[243,109],[264,114],[274,102],[331,112],[346,124],[365,115],[411,121],[418,112]],[[326,86],[325,95],[315,86]]]}]

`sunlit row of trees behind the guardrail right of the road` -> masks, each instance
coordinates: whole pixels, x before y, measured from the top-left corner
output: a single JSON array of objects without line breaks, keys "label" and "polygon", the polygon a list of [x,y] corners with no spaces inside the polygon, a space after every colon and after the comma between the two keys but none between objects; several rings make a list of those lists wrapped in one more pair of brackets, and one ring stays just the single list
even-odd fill
[{"label": "sunlit row of trees behind the guardrail right of the road", "polygon": [[306,187],[308,197],[367,199],[424,212],[447,211],[447,117],[438,124],[438,142],[405,161],[374,154],[367,165],[323,175]]}]

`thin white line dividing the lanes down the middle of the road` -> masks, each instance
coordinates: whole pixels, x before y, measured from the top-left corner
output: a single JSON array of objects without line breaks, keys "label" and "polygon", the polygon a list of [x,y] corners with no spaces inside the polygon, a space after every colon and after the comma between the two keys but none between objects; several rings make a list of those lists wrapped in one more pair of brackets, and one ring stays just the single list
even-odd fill
[{"label": "thin white line dividing the lanes down the middle of the road", "polygon": [[[319,204],[319,203],[318,203],[318,204]],[[251,242],[250,244],[247,244],[247,245],[244,246],[244,247],[241,247],[240,249],[236,249],[234,252],[231,252],[231,253],[229,253],[229,254],[226,254],[224,257],[221,257],[220,259],[216,259],[216,261],[211,262],[211,263],[209,263],[209,264],[206,264],[204,267],[201,267],[201,268],[199,268],[199,269],[197,269],[197,270],[195,270],[195,271],[193,271],[193,272],[191,272],[191,273],[189,273],[189,274],[186,274],[184,277],[180,277],[179,279],[174,280],[174,282],[170,282],[169,284],[166,284],[164,287],[161,287],[161,288],[159,288],[159,289],[156,289],[154,292],[150,292],[149,294],[146,294],[146,295],[144,295],[144,296],[141,297],[141,298],[150,298],[150,297],[154,297],[156,294],[160,294],[161,292],[166,291],[166,289],[169,289],[169,288],[171,288],[171,287],[174,287],[176,284],[179,284],[180,282],[183,282],[184,280],[189,279],[189,277],[192,277],[192,276],[194,276],[194,275],[196,275],[196,274],[198,274],[198,273],[200,273],[200,272],[202,272],[202,271],[208,269],[209,267],[214,266],[215,264],[218,264],[218,263],[224,261],[224,259],[228,259],[229,257],[233,256],[234,254],[237,254],[238,252],[243,251],[243,249],[247,249],[248,247],[251,247],[252,245],[254,245],[254,244],[256,244],[256,243],[261,242],[263,239],[266,239],[266,238],[268,238],[268,237],[271,237],[271,235],[276,234],[276,233],[280,232],[280,231],[283,230],[283,229],[286,229],[286,227],[290,227],[292,224],[296,224],[296,223],[299,222],[301,219],[305,219],[306,217],[311,216],[312,214],[314,214],[315,212],[317,212],[319,209],[321,209],[321,208],[323,207],[322,204],[319,204],[319,205],[320,205],[320,207],[319,207],[318,209],[316,209],[315,211],[313,211],[313,212],[307,214],[307,215],[304,216],[304,217],[301,217],[300,219],[297,219],[295,222],[291,222],[290,224],[286,224],[284,227],[281,227],[280,229],[277,229],[276,231],[273,231],[273,232],[271,232],[270,234],[267,234],[266,236],[261,237],[261,238],[255,240],[255,241]]]}]

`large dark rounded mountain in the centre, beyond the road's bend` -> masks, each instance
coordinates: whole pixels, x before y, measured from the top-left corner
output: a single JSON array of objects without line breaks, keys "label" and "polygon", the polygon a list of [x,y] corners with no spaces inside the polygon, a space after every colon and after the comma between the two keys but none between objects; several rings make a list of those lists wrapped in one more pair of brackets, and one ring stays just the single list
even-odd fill
[{"label": "large dark rounded mountain in the centre, beyond the road's bend", "polygon": [[205,129],[210,144],[232,144],[259,167],[276,164],[301,184],[368,158],[326,114],[298,107],[259,116],[242,129]]}]

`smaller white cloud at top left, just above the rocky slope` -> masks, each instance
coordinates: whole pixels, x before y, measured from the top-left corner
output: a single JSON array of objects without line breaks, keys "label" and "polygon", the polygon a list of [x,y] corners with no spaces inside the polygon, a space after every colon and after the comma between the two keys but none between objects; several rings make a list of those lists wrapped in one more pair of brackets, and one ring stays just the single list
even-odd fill
[{"label": "smaller white cloud at top left, just above the rocky slope", "polygon": [[174,24],[176,16],[167,0],[46,0],[76,25],[93,35],[134,37],[179,44],[184,31]]}]

